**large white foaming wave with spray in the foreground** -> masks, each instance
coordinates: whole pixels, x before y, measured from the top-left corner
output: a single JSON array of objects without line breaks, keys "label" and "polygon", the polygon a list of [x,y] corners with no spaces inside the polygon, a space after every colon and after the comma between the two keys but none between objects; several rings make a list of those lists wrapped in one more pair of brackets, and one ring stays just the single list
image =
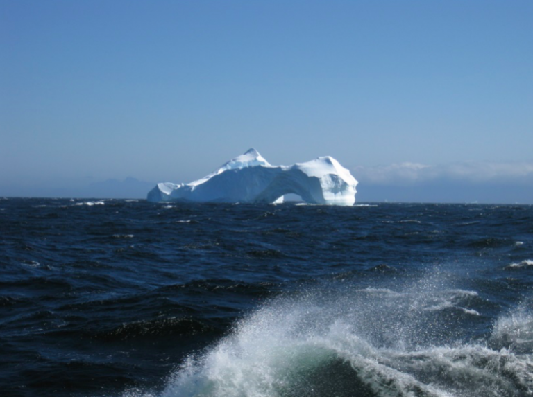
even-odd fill
[{"label": "large white foaming wave with spray in the foreground", "polygon": [[[476,311],[481,298],[474,291],[435,281],[396,290],[332,289],[271,301],[219,344],[189,357],[155,395],[532,395],[531,315],[502,316],[487,340],[471,342],[457,333],[461,316],[434,308],[436,316],[427,308],[437,297]],[[124,396],[140,395],[152,396],[131,391]]]}]

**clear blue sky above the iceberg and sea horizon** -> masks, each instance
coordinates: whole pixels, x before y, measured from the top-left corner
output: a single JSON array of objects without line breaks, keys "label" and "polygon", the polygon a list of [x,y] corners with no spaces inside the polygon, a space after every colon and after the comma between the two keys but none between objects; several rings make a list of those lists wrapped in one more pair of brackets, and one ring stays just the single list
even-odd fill
[{"label": "clear blue sky above the iceberg and sea horizon", "polygon": [[532,19],[532,1],[0,0],[0,196],[191,182],[255,148],[335,157],[362,197],[505,182],[533,202]]}]

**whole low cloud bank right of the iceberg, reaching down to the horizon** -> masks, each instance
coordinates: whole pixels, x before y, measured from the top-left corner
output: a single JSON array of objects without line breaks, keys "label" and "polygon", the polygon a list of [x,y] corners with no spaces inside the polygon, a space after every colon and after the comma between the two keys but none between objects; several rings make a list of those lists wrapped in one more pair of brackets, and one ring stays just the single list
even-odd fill
[{"label": "whole low cloud bank right of the iceberg, reaching down to the horizon", "polygon": [[359,202],[533,204],[533,163],[402,163],[351,172]]}]

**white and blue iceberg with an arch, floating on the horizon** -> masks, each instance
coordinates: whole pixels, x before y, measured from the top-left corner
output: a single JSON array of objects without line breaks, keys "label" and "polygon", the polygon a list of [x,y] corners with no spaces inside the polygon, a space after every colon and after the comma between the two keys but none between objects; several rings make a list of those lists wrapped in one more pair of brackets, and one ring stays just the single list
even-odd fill
[{"label": "white and blue iceberg with an arch, floating on the horizon", "polygon": [[353,205],[357,181],[333,157],[272,166],[255,149],[189,184],[160,183],[149,202],[280,203],[289,193],[310,204]]}]

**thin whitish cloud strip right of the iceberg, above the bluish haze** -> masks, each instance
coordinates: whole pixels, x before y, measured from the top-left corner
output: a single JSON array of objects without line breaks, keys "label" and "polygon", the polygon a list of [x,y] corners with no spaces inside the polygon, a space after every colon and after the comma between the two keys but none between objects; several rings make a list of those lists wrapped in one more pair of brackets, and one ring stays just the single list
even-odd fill
[{"label": "thin whitish cloud strip right of the iceberg, above the bluish haze", "polygon": [[418,163],[352,168],[359,182],[366,184],[412,186],[430,182],[509,183],[533,182],[533,163],[465,162],[428,166]]}]

